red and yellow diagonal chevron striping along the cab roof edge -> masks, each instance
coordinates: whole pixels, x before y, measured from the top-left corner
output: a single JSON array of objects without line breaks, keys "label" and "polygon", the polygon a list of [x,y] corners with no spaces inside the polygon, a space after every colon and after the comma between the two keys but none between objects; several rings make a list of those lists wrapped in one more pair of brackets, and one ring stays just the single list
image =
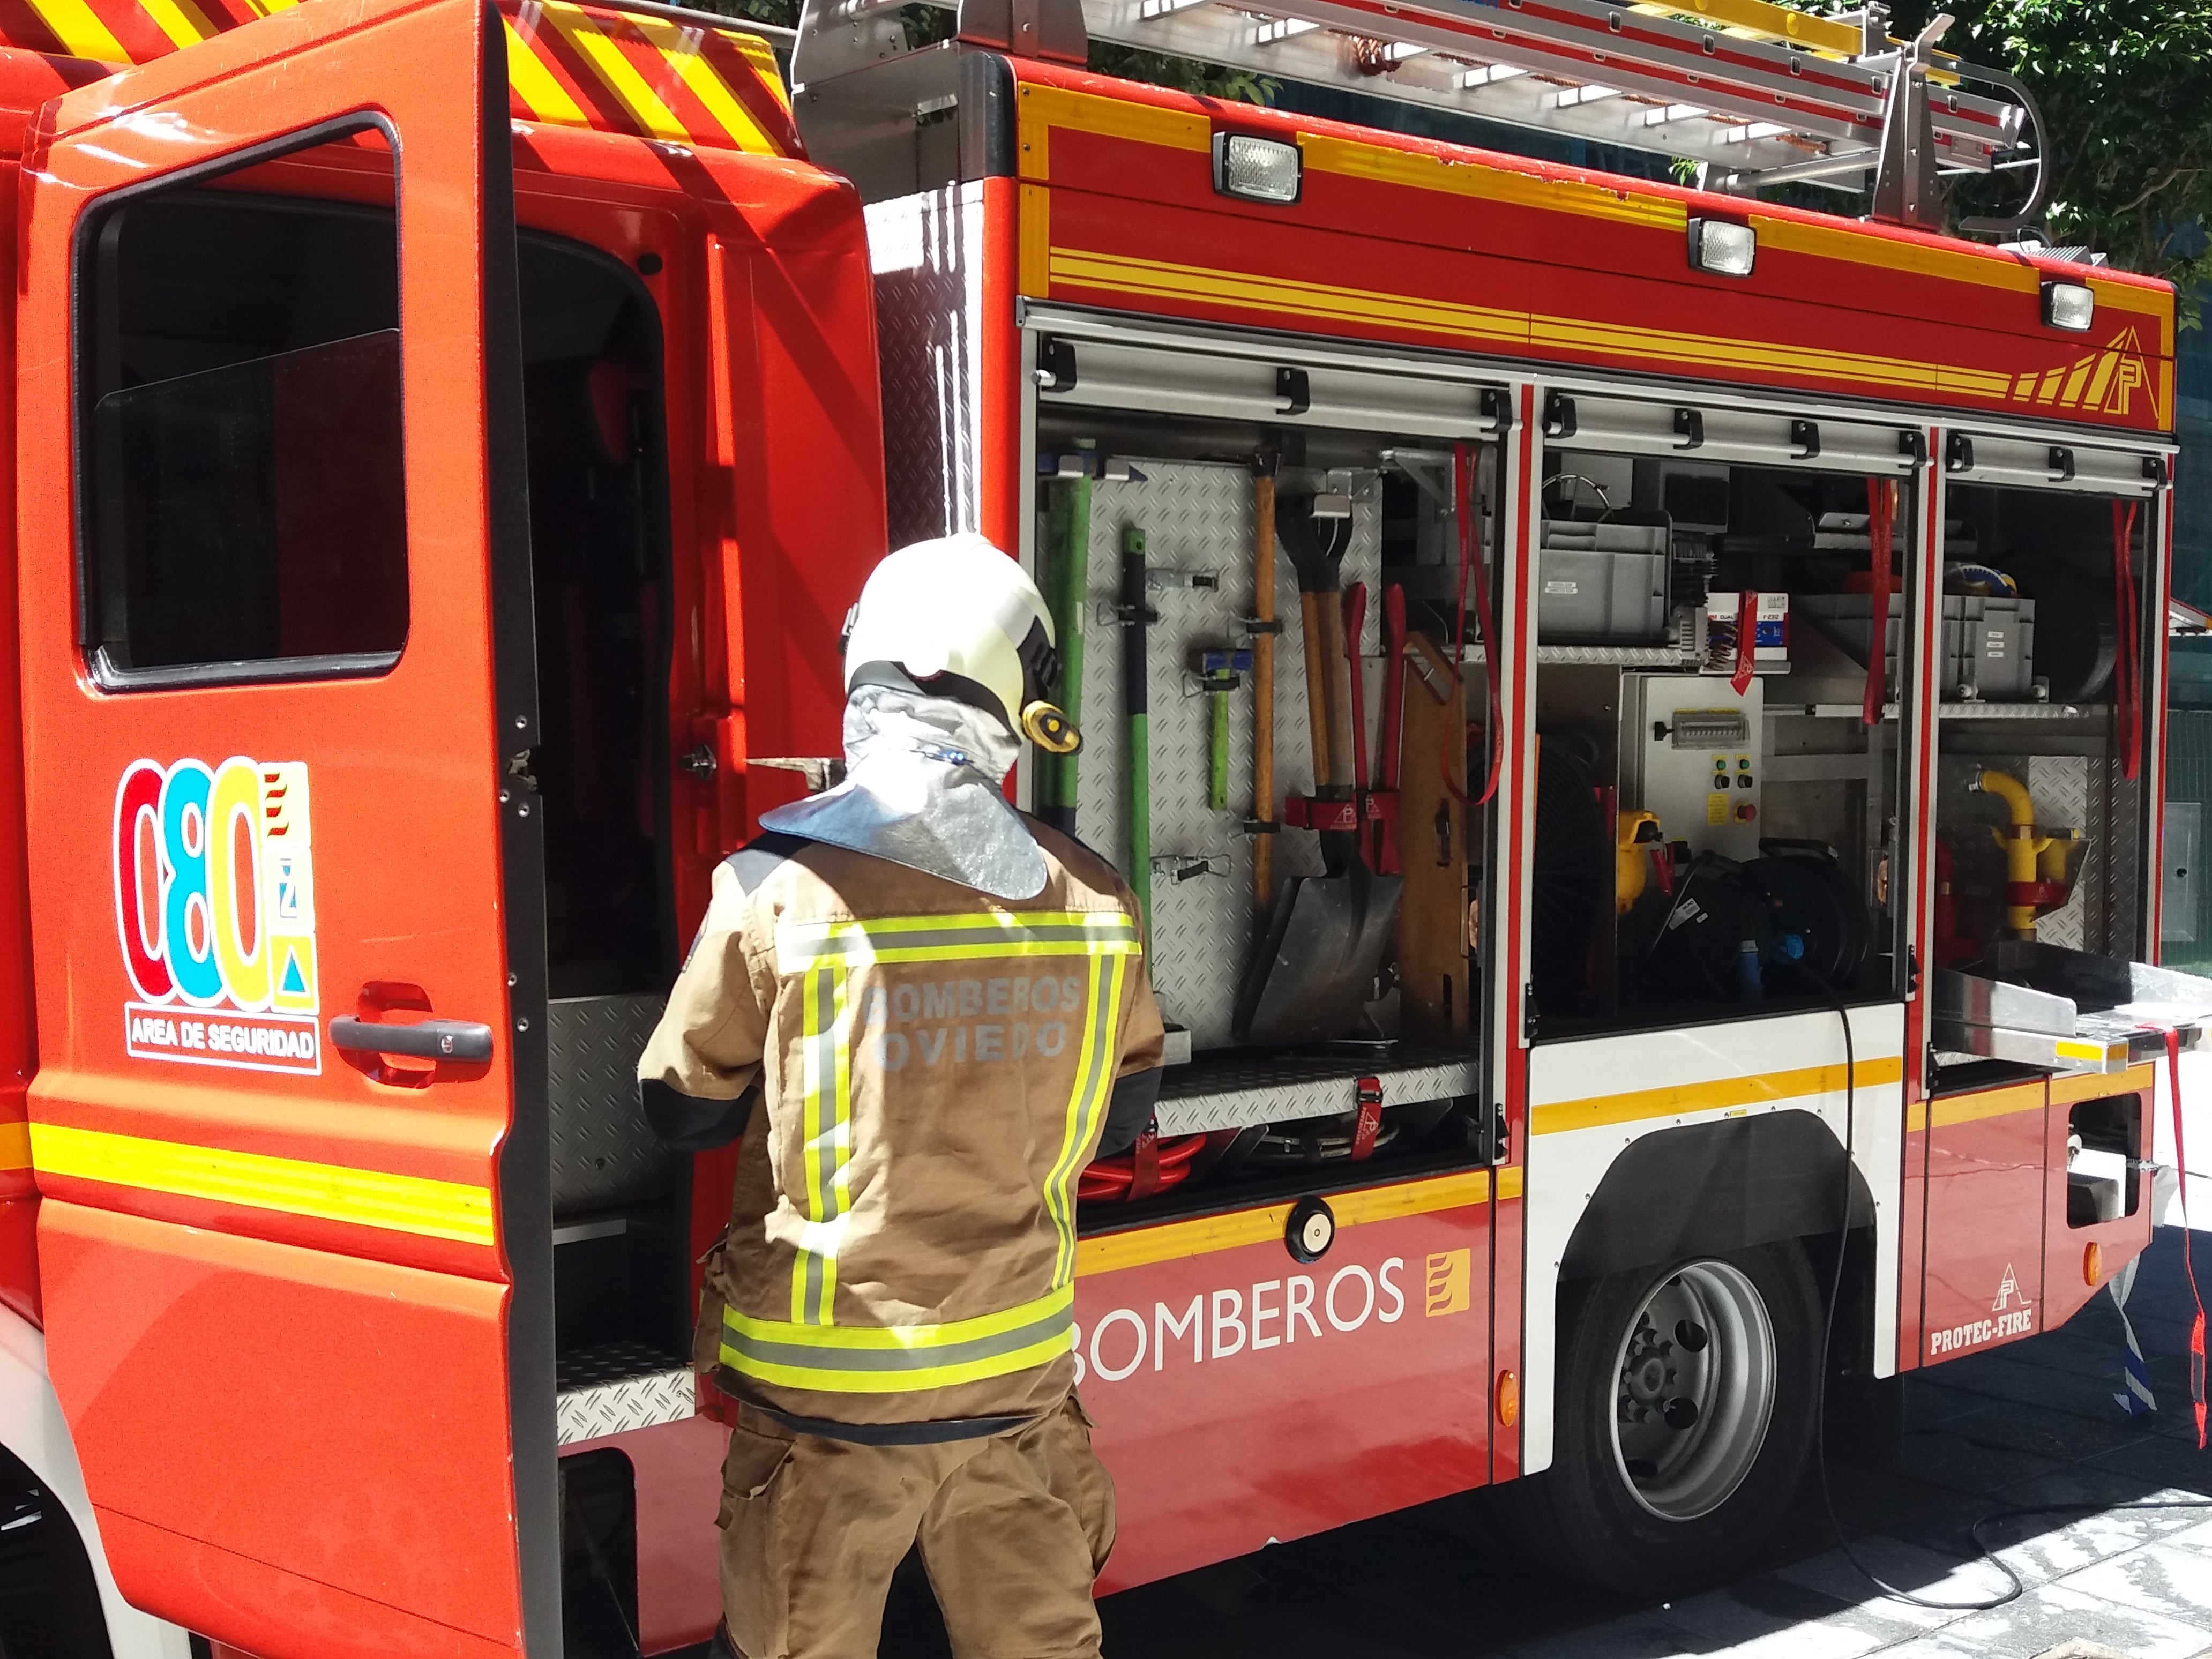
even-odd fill
[{"label": "red and yellow diagonal chevron striping along the cab roof edge", "polygon": [[[62,60],[55,71],[77,86],[100,66],[144,64],[294,2],[0,0],[0,46]],[[518,122],[803,155],[774,53],[737,24],[695,27],[573,0],[500,0],[500,11]]]}]

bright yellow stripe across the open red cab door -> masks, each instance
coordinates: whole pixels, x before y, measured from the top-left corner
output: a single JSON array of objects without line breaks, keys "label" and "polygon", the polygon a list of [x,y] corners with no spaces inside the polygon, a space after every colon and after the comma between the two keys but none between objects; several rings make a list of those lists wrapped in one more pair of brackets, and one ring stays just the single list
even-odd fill
[{"label": "bright yellow stripe across the open red cab door", "polygon": [[491,1188],[460,1181],[108,1135],[66,1124],[31,1124],[31,1161],[42,1175],[106,1181],[179,1199],[243,1203],[254,1210],[487,1248],[495,1243]]}]

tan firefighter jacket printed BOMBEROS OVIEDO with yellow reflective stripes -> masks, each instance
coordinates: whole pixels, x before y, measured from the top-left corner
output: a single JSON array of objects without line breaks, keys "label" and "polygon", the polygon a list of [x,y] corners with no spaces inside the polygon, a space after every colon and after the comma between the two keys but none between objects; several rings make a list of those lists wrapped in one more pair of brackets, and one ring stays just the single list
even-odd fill
[{"label": "tan firefighter jacket printed BOMBEROS OVIEDO with yellow reflective stripes", "polygon": [[765,1102],[695,1352],[730,1394],[918,1425],[1073,1387],[1075,1177],[1161,1022],[1119,874],[1031,827],[1020,902],[787,836],[714,872],[639,1079]]}]

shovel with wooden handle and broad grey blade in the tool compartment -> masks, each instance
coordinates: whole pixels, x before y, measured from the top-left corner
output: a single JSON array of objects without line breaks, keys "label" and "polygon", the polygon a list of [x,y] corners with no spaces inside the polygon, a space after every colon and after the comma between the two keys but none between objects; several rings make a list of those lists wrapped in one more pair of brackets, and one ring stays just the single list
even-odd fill
[{"label": "shovel with wooden handle and broad grey blade in the tool compartment", "polygon": [[1274,524],[1298,571],[1316,783],[1312,803],[1285,805],[1307,807],[1303,816],[1318,830],[1327,874],[1285,885],[1237,998],[1234,1033],[1239,1042],[1287,1046],[1329,1042],[1360,1024],[1391,947],[1402,880],[1376,876],[1360,856],[1338,597],[1352,520],[1316,520],[1312,495],[1279,495]]}]

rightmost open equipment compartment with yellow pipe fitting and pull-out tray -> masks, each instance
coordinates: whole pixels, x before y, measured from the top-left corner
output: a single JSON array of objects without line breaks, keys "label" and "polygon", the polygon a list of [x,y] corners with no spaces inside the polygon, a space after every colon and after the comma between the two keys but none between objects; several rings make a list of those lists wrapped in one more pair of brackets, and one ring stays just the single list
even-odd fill
[{"label": "rightmost open equipment compartment with yellow pipe fitting and pull-out tray", "polygon": [[1947,440],[1944,608],[1966,611],[1971,664],[1938,706],[1931,1048],[1947,1077],[2117,1075],[2163,1053],[2168,1024],[2194,1044],[2212,1013],[2212,984],[2146,967],[2163,480],[2143,451]]}]

